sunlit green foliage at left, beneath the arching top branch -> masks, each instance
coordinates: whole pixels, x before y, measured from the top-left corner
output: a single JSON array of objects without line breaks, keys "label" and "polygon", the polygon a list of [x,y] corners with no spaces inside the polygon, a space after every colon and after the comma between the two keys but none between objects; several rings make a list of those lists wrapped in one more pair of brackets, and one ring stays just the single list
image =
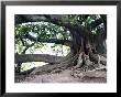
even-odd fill
[{"label": "sunlit green foliage at left, beneath the arching top branch", "polygon": [[[29,22],[15,25],[15,52],[22,53],[25,46],[29,46],[33,41],[24,39],[29,32],[38,34],[40,40],[70,40],[69,31],[65,31],[63,26],[58,26],[48,22]],[[67,33],[66,33],[67,32]],[[34,48],[42,47],[45,44],[36,42]]]}]

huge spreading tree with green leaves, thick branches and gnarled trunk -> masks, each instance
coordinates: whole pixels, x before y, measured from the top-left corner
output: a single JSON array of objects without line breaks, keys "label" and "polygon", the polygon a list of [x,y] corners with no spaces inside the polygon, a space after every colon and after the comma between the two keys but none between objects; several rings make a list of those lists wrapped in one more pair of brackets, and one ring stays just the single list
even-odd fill
[{"label": "huge spreading tree with green leaves, thick branches and gnarled trunk", "polygon": [[[107,64],[106,14],[15,14],[14,24],[15,44],[24,46],[14,55],[19,71],[25,62],[48,63],[35,71],[40,73],[74,65],[82,67],[92,63]],[[67,45],[70,52],[66,56],[25,54],[28,48],[40,47],[42,43]]]}]

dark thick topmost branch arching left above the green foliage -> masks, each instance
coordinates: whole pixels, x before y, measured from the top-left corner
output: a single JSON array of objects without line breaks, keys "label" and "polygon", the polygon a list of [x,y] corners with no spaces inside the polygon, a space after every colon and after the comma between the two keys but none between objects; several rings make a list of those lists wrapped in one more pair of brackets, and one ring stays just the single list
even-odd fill
[{"label": "dark thick topmost branch arching left above the green foliage", "polygon": [[[69,22],[63,22],[61,20],[61,17],[57,17],[55,18],[55,15],[42,15],[42,14],[21,14],[21,15],[15,15],[16,19],[15,19],[15,23],[23,23],[23,22],[41,22],[41,21],[44,21],[44,22],[51,22],[51,23],[54,23],[54,24],[57,24],[57,25],[61,25],[61,26],[65,26],[69,30],[75,30],[75,32],[79,32],[79,34],[81,36],[85,36],[85,37],[90,37],[90,31],[88,31],[86,28],[81,26],[81,25],[73,25],[70,24]],[[53,18],[54,17],[54,18]],[[19,21],[19,19],[21,21]],[[16,20],[19,22],[16,22]]]}]

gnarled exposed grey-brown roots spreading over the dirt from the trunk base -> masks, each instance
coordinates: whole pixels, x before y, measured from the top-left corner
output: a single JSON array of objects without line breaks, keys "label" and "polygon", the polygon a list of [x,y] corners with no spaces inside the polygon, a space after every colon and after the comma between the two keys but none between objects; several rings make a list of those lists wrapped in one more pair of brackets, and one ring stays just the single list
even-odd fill
[{"label": "gnarled exposed grey-brown roots spreading over the dirt from the trunk base", "polygon": [[[96,60],[100,60],[100,58],[96,58]],[[91,62],[89,55],[86,55],[84,52],[80,52],[74,56],[68,55],[59,64],[53,64],[53,65],[47,64],[34,68],[33,71],[31,71],[31,73],[25,72],[30,75],[18,78],[19,80],[16,82],[24,82],[24,79],[32,80],[33,78],[35,78],[36,75],[62,74],[64,69],[72,71],[70,76],[73,76],[74,78],[79,78],[80,82],[85,82],[86,79],[95,80],[96,78],[97,80],[99,80],[98,77],[102,79],[106,78],[106,74],[101,74],[101,73],[103,73],[103,71],[106,71],[107,68],[101,64],[101,60],[98,61],[98,63],[95,63],[95,61]]]}]

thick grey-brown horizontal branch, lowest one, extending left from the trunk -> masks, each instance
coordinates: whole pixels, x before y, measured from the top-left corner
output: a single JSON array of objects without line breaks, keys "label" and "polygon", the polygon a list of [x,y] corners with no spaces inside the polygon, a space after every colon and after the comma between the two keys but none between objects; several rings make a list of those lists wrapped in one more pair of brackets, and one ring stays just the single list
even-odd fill
[{"label": "thick grey-brown horizontal branch, lowest one, extending left from the trunk", "polygon": [[45,63],[61,63],[63,56],[55,56],[48,54],[15,54],[15,63],[26,62],[45,62]]}]

